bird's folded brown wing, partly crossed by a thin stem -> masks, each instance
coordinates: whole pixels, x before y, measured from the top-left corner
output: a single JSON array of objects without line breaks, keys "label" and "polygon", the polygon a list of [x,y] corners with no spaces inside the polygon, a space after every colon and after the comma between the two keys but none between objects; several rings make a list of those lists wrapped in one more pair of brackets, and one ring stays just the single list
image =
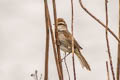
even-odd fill
[{"label": "bird's folded brown wing, partly crossed by a thin stem", "polygon": [[[66,37],[66,40],[67,40],[70,44],[72,44],[72,34],[71,34],[70,32],[68,32],[68,31],[64,31],[64,36]],[[75,38],[74,38],[74,46],[75,46],[76,48],[78,48],[78,49],[83,49],[83,48],[78,44],[78,42],[75,40]]]}]

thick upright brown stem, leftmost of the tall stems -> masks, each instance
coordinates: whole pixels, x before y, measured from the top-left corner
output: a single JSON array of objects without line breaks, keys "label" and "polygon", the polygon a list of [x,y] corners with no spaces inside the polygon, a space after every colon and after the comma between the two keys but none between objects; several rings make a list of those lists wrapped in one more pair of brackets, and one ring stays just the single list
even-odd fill
[{"label": "thick upright brown stem, leftmost of the tall stems", "polygon": [[44,0],[45,6],[45,21],[46,21],[46,49],[45,49],[45,75],[44,80],[48,80],[48,58],[49,58],[49,24],[48,24],[48,12],[47,12],[47,0]]}]

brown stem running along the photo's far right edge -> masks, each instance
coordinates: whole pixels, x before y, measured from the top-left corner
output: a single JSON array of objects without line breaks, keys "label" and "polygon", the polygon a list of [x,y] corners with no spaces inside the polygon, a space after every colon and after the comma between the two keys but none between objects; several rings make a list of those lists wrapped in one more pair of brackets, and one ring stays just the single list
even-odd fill
[{"label": "brown stem running along the photo's far right edge", "polygon": [[[119,0],[119,39],[120,39],[120,0]],[[120,44],[118,43],[118,58],[117,58],[117,80],[119,80],[120,76]]]}]

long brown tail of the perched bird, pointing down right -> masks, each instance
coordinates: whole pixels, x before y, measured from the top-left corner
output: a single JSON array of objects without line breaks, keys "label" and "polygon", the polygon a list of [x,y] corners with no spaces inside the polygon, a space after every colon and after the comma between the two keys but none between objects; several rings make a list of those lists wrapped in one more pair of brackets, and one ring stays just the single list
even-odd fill
[{"label": "long brown tail of the perched bird, pointing down right", "polygon": [[82,67],[83,67],[83,68],[85,67],[87,70],[91,71],[88,62],[87,62],[87,61],[85,60],[85,58],[82,56],[81,52],[80,52],[80,51],[77,51],[77,52],[75,52],[75,54],[76,54],[77,57],[79,58]]}]

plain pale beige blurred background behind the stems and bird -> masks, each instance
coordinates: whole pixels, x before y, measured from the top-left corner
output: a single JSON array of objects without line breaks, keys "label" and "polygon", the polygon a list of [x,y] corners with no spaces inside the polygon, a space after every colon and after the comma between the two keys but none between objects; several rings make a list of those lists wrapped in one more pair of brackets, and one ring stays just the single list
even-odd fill
[{"label": "plain pale beige blurred background behind the stems and bird", "polygon": [[[49,9],[53,24],[52,3]],[[70,0],[56,0],[57,16],[71,22]],[[105,23],[104,0],[83,0],[83,4]],[[109,0],[109,26],[118,34],[118,0]],[[74,36],[83,47],[82,53],[92,71],[81,68],[75,57],[77,80],[106,80],[108,60],[105,30],[83,11],[74,0]],[[110,35],[110,48],[116,72],[117,41]],[[44,78],[45,53],[44,0],[0,0],[0,80],[33,80],[30,74],[36,69]],[[64,53],[61,52],[62,57]],[[50,43],[49,80],[58,80],[53,49]],[[71,55],[67,57],[73,80]],[[63,63],[63,67],[65,67]],[[64,68],[65,80],[68,80]]]}]

